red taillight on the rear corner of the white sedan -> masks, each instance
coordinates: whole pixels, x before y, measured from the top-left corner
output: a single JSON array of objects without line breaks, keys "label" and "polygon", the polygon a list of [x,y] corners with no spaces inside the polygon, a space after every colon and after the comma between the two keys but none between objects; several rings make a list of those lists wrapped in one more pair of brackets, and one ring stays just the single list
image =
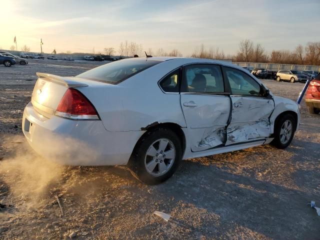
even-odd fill
[{"label": "red taillight on the rear corner of the white sedan", "polygon": [[56,108],[55,115],[71,119],[99,119],[92,103],[74,88],[66,90]]}]

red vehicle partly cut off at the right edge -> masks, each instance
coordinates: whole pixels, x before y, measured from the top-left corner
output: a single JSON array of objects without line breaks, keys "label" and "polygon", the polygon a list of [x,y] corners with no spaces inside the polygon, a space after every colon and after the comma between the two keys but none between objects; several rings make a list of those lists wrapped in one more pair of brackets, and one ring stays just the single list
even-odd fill
[{"label": "red vehicle partly cut off at the right edge", "polygon": [[310,113],[318,114],[320,112],[320,74],[310,82],[304,99]]}]

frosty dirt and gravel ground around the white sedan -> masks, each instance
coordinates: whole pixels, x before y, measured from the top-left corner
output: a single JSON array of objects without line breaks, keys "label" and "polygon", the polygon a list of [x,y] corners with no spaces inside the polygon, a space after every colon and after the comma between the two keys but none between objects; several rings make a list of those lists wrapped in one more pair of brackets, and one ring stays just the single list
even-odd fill
[{"label": "frosty dirt and gravel ground around the white sedan", "polygon": [[[307,205],[320,206],[320,115],[310,115],[304,103],[288,148],[263,145],[185,160],[155,186],[138,182],[126,166],[61,166],[34,154],[21,118],[35,72],[76,75],[103,63],[0,66],[0,239],[320,238],[320,216]],[[303,87],[263,82],[293,100]]]}]

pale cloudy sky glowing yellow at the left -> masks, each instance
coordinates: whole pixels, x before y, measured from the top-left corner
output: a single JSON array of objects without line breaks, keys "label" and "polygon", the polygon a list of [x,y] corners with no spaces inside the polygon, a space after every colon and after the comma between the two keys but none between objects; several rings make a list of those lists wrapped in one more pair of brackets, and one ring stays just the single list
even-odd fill
[{"label": "pale cloudy sky glowing yellow at the left", "polygon": [[[234,54],[242,39],[266,51],[320,41],[320,0],[0,0],[0,48],[31,51],[118,50],[125,40],[143,49],[202,43]],[[8,20],[3,20],[8,19]]]}]

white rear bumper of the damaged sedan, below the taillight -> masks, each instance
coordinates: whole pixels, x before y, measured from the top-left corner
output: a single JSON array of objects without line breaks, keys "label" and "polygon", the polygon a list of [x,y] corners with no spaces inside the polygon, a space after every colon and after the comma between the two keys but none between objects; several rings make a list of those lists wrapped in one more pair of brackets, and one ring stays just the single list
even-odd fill
[{"label": "white rear bumper of the damaged sedan, below the taillight", "polygon": [[22,131],[41,156],[63,165],[126,164],[143,131],[105,130],[100,120],[70,120],[39,114],[29,102]]}]

